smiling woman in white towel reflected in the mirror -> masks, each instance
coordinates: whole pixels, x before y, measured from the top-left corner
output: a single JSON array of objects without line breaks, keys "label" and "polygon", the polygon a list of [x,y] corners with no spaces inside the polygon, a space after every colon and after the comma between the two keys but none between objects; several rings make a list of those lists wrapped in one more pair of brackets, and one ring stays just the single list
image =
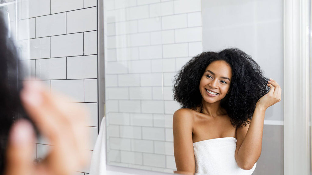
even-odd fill
[{"label": "smiling woman in white towel reflected in the mirror", "polygon": [[192,58],[173,92],[182,105],[173,115],[177,172],[252,174],[265,111],[281,98],[278,83],[243,51],[225,49]]}]

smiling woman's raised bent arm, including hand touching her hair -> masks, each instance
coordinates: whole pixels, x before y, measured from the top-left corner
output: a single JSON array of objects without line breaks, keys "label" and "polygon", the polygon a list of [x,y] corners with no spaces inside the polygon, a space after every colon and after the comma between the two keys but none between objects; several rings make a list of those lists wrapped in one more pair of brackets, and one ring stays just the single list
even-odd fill
[{"label": "smiling woman's raised bent arm, including hand touching her hair", "polygon": [[268,86],[270,92],[261,97],[256,104],[256,109],[250,121],[250,125],[236,129],[236,151],[237,165],[245,170],[251,169],[261,155],[263,122],[266,109],[280,102],[281,88],[276,81],[270,79]]}]

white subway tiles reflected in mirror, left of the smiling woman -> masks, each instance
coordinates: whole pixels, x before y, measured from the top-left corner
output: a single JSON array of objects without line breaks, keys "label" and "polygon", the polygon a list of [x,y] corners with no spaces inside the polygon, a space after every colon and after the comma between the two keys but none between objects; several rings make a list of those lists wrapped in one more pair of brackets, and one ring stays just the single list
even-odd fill
[{"label": "white subway tiles reflected in mirror, left of the smiling woman", "polygon": [[173,173],[173,80],[202,52],[200,0],[106,0],[108,162]]}]

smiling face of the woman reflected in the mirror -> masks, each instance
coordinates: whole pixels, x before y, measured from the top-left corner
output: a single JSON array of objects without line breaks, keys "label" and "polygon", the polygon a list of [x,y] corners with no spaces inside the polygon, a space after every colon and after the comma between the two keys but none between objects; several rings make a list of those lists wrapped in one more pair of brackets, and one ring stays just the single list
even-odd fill
[{"label": "smiling face of the woman reflected in the mirror", "polygon": [[208,103],[222,100],[230,89],[232,69],[225,61],[210,63],[199,83],[202,98]]}]

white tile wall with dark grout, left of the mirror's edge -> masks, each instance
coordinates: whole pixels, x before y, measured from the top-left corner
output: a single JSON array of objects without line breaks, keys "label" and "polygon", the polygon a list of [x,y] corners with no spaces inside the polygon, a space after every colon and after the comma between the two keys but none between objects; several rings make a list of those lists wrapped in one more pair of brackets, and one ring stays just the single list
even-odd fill
[{"label": "white tile wall with dark grout, left of the mirror's edge", "polygon": [[[97,0],[22,0],[17,3],[22,7],[18,12],[17,31],[17,39],[22,40],[22,64],[33,77],[46,84],[52,95],[62,92],[71,102],[79,102],[87,109],[89,117],[85,126],[90,140],[85,143],[85,151],[90,162],[98,134]],[[112,80],[116,82],[113,86],[118,87],[117,78],[112,77]],[[110,104],[110,111],[119,111],[118,101]],[[119,125],[117,129],[111,129],[112,136],[120,137]],[[44,157],[51,145],[53,140],[39,139],[37,157]],[[120,162],[120,151],[115,152],[119,154],[116,161]],[[81,167],[75,174],[87,174],[89,169],[89,166]]]}]

